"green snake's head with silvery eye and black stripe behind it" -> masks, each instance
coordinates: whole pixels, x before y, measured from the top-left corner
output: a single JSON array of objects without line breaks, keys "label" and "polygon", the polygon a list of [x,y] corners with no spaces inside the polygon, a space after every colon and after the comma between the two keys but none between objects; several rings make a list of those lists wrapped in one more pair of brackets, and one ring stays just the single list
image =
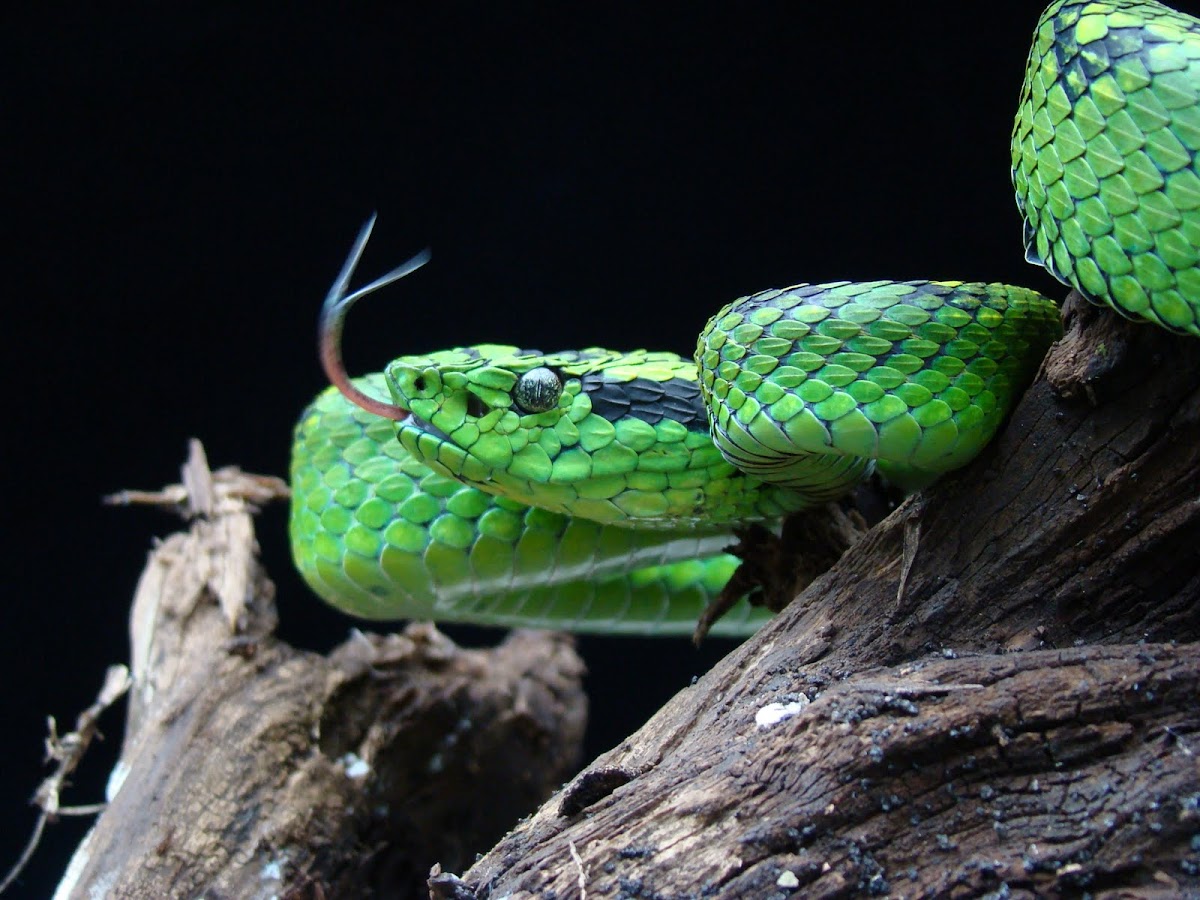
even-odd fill
[{"label": "green snake's head with silvery eye and black stripe behind it", "polygon": [[745,493],[708,434],[695,364],[673,353],[482,344],[403,356],[385,379],[406,450],[530,506],[677,527]]}]

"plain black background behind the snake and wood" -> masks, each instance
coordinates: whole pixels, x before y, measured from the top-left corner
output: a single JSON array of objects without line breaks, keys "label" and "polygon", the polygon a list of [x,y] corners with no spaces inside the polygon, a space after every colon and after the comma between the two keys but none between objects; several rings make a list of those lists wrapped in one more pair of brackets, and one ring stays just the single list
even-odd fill
[{"label": "plain black background behind the snake and wood", "polygon": [[[690,353],[708,316],[798,281],[943,277],[1063,292],[1022,258],[1008,136],[1040,2],[587,7],[110,5],[10,19],[0,862],[108,664],[155,535],[102,508],[185,442],[283,474],[322,388],[317,310],[362,220],[352,372],[484,341]],[[361,283],[361,281],[359,282]],[[282,632],[355,623],[260,520]],[[492,637],[488,634],[485,638]],[[472,637],[479,637],[478,634]],[[732,644],[581,642],[589,754]],[[66,803],[101,798],[119,742]],[[84,824],[13,895],[47,895]]]}]

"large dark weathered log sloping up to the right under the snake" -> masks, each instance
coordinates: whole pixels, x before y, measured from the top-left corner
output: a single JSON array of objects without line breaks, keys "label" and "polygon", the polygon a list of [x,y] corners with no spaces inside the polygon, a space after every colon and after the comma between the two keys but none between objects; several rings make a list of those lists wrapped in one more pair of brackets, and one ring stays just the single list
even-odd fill
[{"label": "large dark weathered log sloping up to the right under the snake", "polygon": [[1200,350],[1067,324],[983,458],[432,895],[1200,895]]}]

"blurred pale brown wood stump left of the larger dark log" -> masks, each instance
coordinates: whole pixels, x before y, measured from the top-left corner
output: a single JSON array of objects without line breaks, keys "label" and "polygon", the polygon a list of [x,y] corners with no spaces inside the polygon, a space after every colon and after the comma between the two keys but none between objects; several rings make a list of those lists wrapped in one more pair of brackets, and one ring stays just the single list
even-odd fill
[{"label": "blurred pale brown wood stump left of the larger dark log", "polygon": [[466,865],[577,766],[569,638],[463,650],[413,625],[294,649],[250,509],[278,485],[198,454],[184,481],[133,498],[198,517],[142,576],[115,794],[56,896],[421,896],[431,860]]}]

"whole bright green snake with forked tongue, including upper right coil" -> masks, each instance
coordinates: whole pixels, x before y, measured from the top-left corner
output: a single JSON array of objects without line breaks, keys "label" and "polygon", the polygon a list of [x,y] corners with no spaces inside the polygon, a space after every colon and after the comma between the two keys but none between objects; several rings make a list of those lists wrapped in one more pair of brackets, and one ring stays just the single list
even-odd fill
[{"label": "whole bright green snake with forked tongue, including upper right coil", "polygon": [[[1032,262],[1200,336],[1198,149],[1200,23],[1148,0],[1043,13],[1012,143]],[[296,426],[290,515],[305,580],[365,618],[690,634],[734,528],[965,466],[1061,332],[1019,287],[797,284],[722,308],[694,360],[485,344],[350,379],[350,305],[426,259],[348,293],[371,224],[323,310],[334,386]],[[742,600],[712,631],[768,614]]]}]

